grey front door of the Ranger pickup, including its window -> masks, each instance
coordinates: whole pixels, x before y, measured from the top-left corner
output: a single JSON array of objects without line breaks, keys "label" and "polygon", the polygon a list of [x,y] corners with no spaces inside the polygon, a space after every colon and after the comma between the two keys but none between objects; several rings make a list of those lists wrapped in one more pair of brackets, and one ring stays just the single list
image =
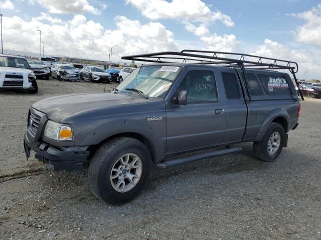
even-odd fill
[{"label": "grey front door of the Ranger pickup, including its window", "polygon": [[177,93],[187,90],[187,105],[169,102],[167,110],[168,153],[218,145],[223,142],[227,114],[219,99],[212,70],[190,70]]}]

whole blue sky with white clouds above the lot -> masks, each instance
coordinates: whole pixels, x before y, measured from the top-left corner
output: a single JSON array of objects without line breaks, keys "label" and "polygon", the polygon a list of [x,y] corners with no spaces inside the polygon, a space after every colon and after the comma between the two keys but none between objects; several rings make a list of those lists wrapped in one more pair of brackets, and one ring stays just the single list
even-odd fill
[{"label": "whole blue sky with white clouds above the lot", "polygon": [[[242,3],[241,3],[242,2]],[[320,0],[0,0],[4,49],[114,61],[126,54],[208,49],[299,63],[321,79]]]}]

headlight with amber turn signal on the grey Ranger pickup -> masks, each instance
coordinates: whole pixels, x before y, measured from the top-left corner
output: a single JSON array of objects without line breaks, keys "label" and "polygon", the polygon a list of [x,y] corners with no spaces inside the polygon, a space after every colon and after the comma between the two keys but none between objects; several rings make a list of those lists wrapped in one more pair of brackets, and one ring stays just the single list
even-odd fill
[{"label": "headlight with amber turn signal on the grey Ranger pickup", "polygon": [[56,141],[72,140],[72,130],[70,126],[49,120],[45,127],[44,136]]}]

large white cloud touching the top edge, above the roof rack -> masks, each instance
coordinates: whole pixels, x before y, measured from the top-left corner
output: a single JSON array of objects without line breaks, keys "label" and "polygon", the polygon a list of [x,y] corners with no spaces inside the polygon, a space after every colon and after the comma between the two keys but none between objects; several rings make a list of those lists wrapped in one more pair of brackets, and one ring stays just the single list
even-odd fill
[{"label": "large white cloud touching the top edge, above the roof rack", "polygon": [[[234,26],[231,17],[221,11],[212,11],[202,0],[126,0],[149,19],[178,19],[185,29],[200,37],[200,44],[207,50],[232,51],[237,41],[233,34],[211,33],[209,25],[216,21]],[[199,26],[196,26],[199,24]],[[193,47],[195,48],[195,46]]]}]

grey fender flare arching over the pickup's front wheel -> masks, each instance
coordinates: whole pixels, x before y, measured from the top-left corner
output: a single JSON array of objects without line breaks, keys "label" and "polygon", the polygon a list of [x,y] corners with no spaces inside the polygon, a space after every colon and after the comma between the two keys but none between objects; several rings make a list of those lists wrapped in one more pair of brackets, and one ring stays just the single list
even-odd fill
[{"label": "grey fender flare arching over the pickup's front wheel", "polygon": [[125,133],[134,133],[143,136],[153,148],[149,150],[154,151],[154,162],[161,161],[165,158],[166,144],[164,145],[162,137],[157,136],[149,124],[134,119],[108,121],[91,131],[80,145],[96,145],[111,136]]}]

